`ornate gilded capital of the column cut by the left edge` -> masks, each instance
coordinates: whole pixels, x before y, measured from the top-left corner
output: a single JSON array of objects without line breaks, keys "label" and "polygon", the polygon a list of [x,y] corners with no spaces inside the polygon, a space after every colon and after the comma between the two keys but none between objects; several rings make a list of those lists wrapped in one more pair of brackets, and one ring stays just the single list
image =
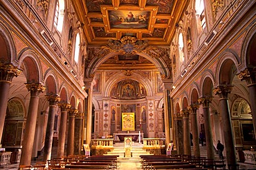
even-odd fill
[{"label": "ornate gilded capital of the column cut by the left edge", "polygon": [[10,83],[14,76],[19,76],[21,70],[11,63],[0,63],[0,81],[7,81]]}]

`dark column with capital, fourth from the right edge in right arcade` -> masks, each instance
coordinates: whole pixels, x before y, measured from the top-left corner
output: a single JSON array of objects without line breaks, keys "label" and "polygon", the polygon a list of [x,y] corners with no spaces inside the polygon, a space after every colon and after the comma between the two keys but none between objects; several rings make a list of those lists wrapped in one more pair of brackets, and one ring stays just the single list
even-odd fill
[{"label": "dark column with capital, fourth from the right edge in right arcade", "polygon": [[190,118],[191,118],[191,127],[192,127],[192,135],[193,135],[193,151],[194,156],[196,158],[200,157],[200,148],[199,148],[199,128],[197,123],[197,115],[196,110],[199,109],[199,105],[190,105],[188,110],[190,111]]}]

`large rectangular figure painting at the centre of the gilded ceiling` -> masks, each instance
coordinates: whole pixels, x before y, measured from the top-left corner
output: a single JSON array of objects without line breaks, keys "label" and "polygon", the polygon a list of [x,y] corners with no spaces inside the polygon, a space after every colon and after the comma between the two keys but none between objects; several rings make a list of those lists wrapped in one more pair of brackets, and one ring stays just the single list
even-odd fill
[{"label": "large rectangular figure painting at the centre of the gilded ceiling", "polygon": [[148,28],[150,12],[141,10],[110,10],[111,28]]}]

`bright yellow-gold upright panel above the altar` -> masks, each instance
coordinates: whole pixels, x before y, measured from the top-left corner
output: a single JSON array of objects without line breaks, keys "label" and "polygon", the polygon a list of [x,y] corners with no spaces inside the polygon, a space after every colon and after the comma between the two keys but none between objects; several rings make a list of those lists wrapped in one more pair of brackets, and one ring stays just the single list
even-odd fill
[{"label": "bright yellow-gold upright panel above the altar", "polygon": [[134,112],[122,113],[122,131],[134,131]]}]

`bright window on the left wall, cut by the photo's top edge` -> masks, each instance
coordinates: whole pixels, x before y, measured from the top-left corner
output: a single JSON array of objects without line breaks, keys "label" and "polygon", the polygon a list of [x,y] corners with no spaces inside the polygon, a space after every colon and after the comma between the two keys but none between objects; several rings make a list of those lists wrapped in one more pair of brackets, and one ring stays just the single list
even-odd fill
[{"label": "bright window on the left wall, cut by the photo's top edge", "polygon": [[56,8],[55,8],[54,26],[55,28],[57,28],[59,32],[62,32],[62,28],[63,28],[64,8],[65,8],[64,0],[57,0]]}]

